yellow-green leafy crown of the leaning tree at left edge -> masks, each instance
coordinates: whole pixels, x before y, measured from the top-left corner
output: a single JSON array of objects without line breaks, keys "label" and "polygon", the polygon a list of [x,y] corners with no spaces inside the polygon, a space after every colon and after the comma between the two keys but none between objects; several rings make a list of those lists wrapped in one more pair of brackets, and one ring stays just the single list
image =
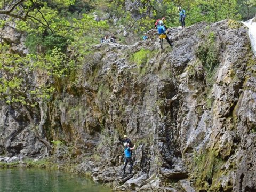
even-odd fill
[{"label": "yellow-green leafy crown of the leaning tree at left edge", "polygon": [[[10,47],[0,45],[0,99],[7,103],[22,103],[36,105],[36,100],[50,99],[55,88],[46,83],[47,79],[63,78],[74,67],[74,61],[59,49],[53,49],[51,54],[22,57],[9,52]],[[30,75],[41,75],[36,82]]]}]

